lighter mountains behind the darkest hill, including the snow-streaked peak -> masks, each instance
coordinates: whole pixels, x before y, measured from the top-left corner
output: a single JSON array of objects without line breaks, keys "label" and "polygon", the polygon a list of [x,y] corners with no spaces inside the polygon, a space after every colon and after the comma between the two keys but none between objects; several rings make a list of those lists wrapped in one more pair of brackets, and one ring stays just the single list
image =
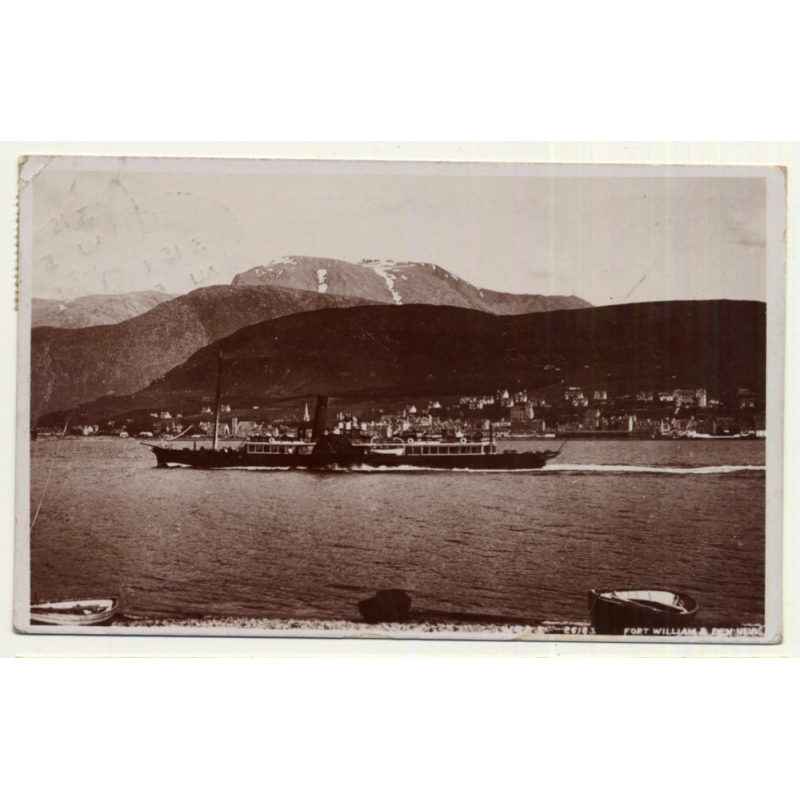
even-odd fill
[{"label": "lighter mountains behind the darkest hill, including the snow-streaked peak", "polygon": [[[197,289],[172,299],[158,292],[139,292],[79,298],[54,309],[51,304],[57,302],[34,300],[34,418],[107,394],[136,392],[200,348],[240,328],[297,312],[413,302],[493,314],[588,306],[579,298],[478,289],[433,264],[359,265],[303,256],[244,272],[231,286]],[[96,324],[99,319],[116,321],[148,303],[154,307],[138,316],[117,324]],[[50,324],[37,325],[37,320]],[[68,320],[72,320],[69,325]]]}]

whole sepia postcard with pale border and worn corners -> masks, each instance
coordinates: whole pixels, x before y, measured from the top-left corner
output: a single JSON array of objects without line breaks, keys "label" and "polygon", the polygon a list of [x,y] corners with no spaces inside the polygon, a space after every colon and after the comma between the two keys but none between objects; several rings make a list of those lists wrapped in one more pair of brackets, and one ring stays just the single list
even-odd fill
[{"label": "whole sepia postcard with pale border and worn corners", "polygon": [[782,168],[19,169],[17,630],[780,641]]}]

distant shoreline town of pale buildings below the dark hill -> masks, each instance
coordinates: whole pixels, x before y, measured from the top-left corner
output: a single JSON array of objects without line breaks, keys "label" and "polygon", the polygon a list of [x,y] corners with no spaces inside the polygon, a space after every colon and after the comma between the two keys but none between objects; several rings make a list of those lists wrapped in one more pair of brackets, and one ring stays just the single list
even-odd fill
[{"label": "distant shoreline town of pale buildings below the dark hill", "polygon": [[[298,436],[310,428],[313,400],[295,406],[220,407],[222,437]],[[213,434],[213,398],[193,410],[135,411],[123,418],[90,422],[78,412],[68,435],[116,437],[208,437]],[[766,437],[763,402],[748,387],[724,399],[703,387],[644,390],[616,395],[581,386],[546,391],[509,391],[413,402],[383,401],[333,407],[329,430],[367,437],[408,439],[482,433],[497,437],[689,438]],[[60,435],[62,426],[35,427],[33,436]]]}]

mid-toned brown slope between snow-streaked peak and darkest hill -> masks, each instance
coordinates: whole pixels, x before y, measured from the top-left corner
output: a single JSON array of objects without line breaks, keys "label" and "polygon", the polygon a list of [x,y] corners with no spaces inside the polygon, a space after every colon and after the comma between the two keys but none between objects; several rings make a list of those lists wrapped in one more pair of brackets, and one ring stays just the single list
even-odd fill
[{"label": "mid-toned brown slope between snow-streaked peak and darkest hill", "polygon": [[117,325],[31,331],[31,416],[147,386],[202,347],[275,317],[363,300],[281,287],[211,286]]}]

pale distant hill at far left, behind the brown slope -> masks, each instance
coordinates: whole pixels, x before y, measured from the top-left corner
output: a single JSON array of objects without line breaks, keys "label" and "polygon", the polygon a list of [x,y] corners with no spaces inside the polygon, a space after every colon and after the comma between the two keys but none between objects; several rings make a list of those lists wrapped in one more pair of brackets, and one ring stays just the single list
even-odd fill
[{"label": "pale distant hill at far left, behind the brown slope", "polygon": [[174,295],[164,292],[129,292],[128,294],[90,294],[74,300],[44,300],[34,297],[31,304],[31,327],[88,328],[92,325],[115,325],[138,317]]}]

